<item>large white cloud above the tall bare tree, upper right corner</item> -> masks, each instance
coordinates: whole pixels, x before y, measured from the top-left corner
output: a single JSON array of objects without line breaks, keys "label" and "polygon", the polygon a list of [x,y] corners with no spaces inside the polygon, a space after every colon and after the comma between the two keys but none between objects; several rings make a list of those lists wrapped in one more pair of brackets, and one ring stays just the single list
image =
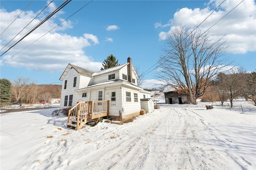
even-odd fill
[{"label": "large white cloud above the tall bare tree, upper right corner", "polygon": [[[207,18],[201,28],[206,30],[232,10],[240,0],[227,0],[221,8],[215,11]],[[172,27],[186,25],[187,27],[198,26],[214,9],[220,4],[220,1],[211,0],[206,8],[188,9],[182,8],[178,10],[171,20]],[[245,0],[238,5],[232,12],[224,17],[220,22],[213,26],[209,32],[215,39],[225,36],[228,47],[228,53],[246,53],[248,51],[256,51],[256,4],[254,0]],[[170,21],[167,23],[170,24]],[[155,24],[162,26],[161,24]],[[170,29],[172,29],[172,27]],[[159,39],[166,40],[168,32],[160,32]]]}]

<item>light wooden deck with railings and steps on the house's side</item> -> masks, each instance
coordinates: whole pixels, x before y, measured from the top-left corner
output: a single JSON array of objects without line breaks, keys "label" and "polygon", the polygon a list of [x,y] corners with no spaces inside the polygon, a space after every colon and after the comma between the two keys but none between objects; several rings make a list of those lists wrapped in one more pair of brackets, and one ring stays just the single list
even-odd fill
[{"label": "light wooden deck with railings and steps on the house's side", "polygon": [[89,119],[107,116],[109,101],[80,101],[68,111],[67,127],[75,130],[83,127]]}]

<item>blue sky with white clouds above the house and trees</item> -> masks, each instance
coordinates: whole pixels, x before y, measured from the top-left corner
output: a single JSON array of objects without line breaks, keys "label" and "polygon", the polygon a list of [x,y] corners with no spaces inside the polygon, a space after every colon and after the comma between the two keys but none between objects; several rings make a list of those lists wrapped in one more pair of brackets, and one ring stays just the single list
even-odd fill
[{"label": "blue sky with white clouds above the house and trees", "polygon": [[[1,0],[1,49],[24,28],[50,1]],[[54,10],[63,1],[53,1],[42,14],[21,32]],[[73,0],[50,20],[24,38],[0,58],[0,77],[10,81],[29,77],[36,84],[61,84],[62,72],[73,63],[92,71],[100,71],[102,62],[113,54],[120,64],[132,58],[133,65],[143,73],[162,54],[170,28],[180,24],[196,27],[222,1],[99,1],[94,0],[60,26],[46,34],[90,1]],[[203,24],[208,29],[241,0],[226,0]],[[10,23],[22,14],[10,25]],[[256,69],[256,4],[244,0],[228,16],[209,31],[214,38],[226,35],[226,55],[232,65],[247,71]],[[10,27],[3,32],[8,26]],[[42,38],[42,35],[46,34]],[[19,37],[19,36],[17,36]],[[39,40],[37,40],[40,38]],[[37,40],[37,41],[36,41]],[[36,41],[32,45],[30,43]],[[28,46],[26,49],[24,49]],[[7,46],[8,47],[8,46]],[[5,48],[4,48],[5,49]],[[1,50],[1,54],[4,51]],[[23,51],[21,51],[24,49]],[[20,53],[18,53],[21,51]],[[18,53],[17,55],[15,55]],[[14,56],[13,56],[14,55]],[[11,57],[11,58],[10,58]],[[10,58],[10,59],[9,59]],[[154,67],[153,67],[154,68]],[[145,76],[144,88],[156,87],[157,69]]]}]

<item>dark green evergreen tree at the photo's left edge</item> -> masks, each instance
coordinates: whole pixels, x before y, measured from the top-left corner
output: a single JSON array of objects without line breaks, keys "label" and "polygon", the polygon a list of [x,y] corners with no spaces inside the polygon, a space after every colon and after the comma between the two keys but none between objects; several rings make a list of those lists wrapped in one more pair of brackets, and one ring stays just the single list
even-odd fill
[{"label": "dark green evergreen tree at the photo's left edge", "polygon": [[2,105],[10,104],[12,96],[12,83],[8,79],[0,79],[0,103]]}]

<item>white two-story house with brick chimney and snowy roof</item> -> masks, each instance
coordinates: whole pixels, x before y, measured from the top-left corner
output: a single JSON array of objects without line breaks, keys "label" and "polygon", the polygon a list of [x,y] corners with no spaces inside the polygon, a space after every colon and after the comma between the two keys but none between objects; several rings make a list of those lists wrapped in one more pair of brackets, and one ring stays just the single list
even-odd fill
[{"label": "white two-story house with brick chimney and snowy roof", "polygon": [[93,72],[68,64],[62,73],[60,109],[79,101],[109,101],[109,117],[122,121],[140,115],[140,99],[150,98],[150,92],[137,86],[138,74],[128,57],[127,63]]}]

